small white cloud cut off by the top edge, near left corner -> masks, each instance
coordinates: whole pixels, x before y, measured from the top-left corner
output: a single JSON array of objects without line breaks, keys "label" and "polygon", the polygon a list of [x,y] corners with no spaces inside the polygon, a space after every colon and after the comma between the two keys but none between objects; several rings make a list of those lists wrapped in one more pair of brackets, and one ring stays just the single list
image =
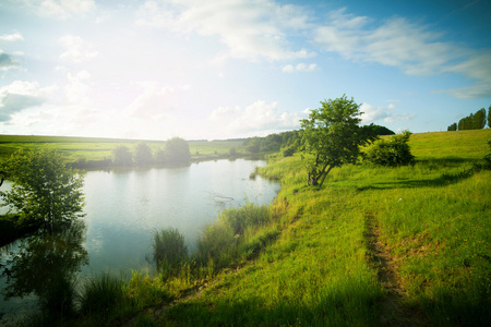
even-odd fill
[{"label": "small white cloud cut off by the top edge, near left corner", "polygon": [[67,20],[73,15],[84,15],[96,8],[93,0],[21,0],[39,16]]}]

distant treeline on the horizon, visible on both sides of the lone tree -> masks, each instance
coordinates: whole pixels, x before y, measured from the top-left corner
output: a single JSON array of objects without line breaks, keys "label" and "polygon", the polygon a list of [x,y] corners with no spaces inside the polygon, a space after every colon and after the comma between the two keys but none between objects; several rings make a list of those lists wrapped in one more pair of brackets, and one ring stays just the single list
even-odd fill
[{"label": "distant treeline on the horizon, visible on both sides of the lone tree", "polygon": [[[378,135],[393,135],[393,131],[385,126],[371,124]],[[289,131],[270,134],[265,137],[250,137],[243,141],[246,150],[251,154],[282,152],[284,156],[291,156],[301,144],[301,131]]]}]

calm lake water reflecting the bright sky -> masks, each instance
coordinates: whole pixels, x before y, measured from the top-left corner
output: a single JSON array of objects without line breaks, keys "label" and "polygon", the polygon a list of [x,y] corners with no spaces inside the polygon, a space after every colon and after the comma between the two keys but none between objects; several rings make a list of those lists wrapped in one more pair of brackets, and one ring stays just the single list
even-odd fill
[{"label": "calm lake water reflecting the bright sky", "polygon": [[[101,271],[131,276],[132,269],[148,267],[146,256],[151,253],[153,232],[168,227],[184,234],[188,249],[193,252],[201,232],[216,219],[219,210],[238,207],[246,202],[262,205],[273,201],[279,191],[278,183],[260,177],[249,178],[255,167],[265,165],[264,160],[237,159],[180,168],[87,172],[83,246],[76,249],[77,256],[72,256],[79,258],[79,266],[68,266],[67,269],[80,270],[79,279]],[[74,237],[69,234],[64,238],[73,240]],[[9,252],[15,255],[19,244],[11,246]],[[46,245],[37,244],[37,247],[46,249]],[[85,256],[87,259],[84,261]],[[1,252],[0,264],[4,265],[11,257],[8,252]],[[70,265],[74,266],[74,263],[72,261]],[[28,264],[23,263],[20,269],[27,270],[24,266]],[[43,269],[53,267],[43,267],[38,259],[35,271]],[[37,272],[25,274],[32,276]],[[49,278],[49,275],[39,279],[43,278]],[[0,291],[7,286],[7,278],[0,278]],[[32,294],[9,301],[0,295],[0,325],[32,310],[35,300]]]}]

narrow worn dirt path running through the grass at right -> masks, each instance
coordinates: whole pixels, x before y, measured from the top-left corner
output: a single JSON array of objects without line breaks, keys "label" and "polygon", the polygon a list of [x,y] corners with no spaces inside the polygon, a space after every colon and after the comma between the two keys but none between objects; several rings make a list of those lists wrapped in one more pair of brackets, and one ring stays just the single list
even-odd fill
[{"label": "narrow worn dirt path running through the grass at right", "polygon": [[366,214],[366,239],[370,255],[369,262],[378,269],[379,280],[387,291],[382,303],[382,323],[384,326],[428,326],[421,312],[409,307],[404,300],[407,292],[397,274],[387,246],[380,240],[380,229],[371,211]]}]

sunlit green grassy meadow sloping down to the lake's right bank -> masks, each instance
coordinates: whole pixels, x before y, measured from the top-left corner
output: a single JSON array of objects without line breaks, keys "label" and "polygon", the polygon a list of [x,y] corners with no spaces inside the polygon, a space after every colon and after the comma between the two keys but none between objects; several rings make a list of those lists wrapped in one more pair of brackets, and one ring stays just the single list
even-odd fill
[{"label": "sunlit green grassy meadow sloping down to the lake's right bank", "polygon": [[84,310],[60,324],[484,326],[489,138],[491,130],[414,134],[415,165],[347,165],[322,189],[307,185],[300,154],[271,156],[256,170],[282,183],[268,207],[220,213],[178,269],[96,278]]}]

